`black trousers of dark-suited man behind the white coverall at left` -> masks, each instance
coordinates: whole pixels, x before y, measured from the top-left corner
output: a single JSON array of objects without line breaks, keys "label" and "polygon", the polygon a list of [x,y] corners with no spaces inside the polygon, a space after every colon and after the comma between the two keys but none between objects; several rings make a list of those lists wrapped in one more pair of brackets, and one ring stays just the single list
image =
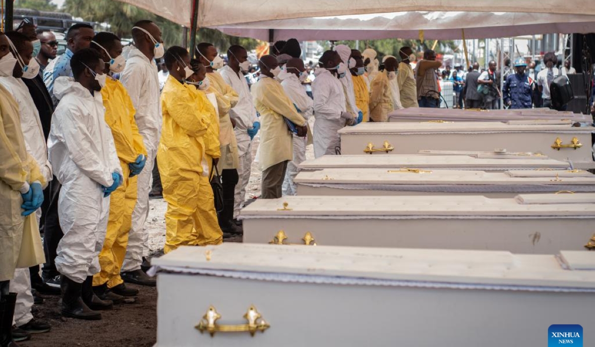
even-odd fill
[{"label": "black trousers of dark-suited man behind the white coverall at left", "polygon": [[[42,219],[40,220],[40,230],[43,230],[43,253],[45,253],[45,264],[43,264],[43,277],[51,278],[58,276],[56,270],[55,259],[57,257],[58,243],[64,236],[62,228],[60,227],[60,218],[58,218],[58,198],[60,197],[60,189],[62,185],[58,179],[49,183],[46,188],[48,190],[48,204],[46,210],[42,207]],[[45,194],[45,192],[44,192]]]}]

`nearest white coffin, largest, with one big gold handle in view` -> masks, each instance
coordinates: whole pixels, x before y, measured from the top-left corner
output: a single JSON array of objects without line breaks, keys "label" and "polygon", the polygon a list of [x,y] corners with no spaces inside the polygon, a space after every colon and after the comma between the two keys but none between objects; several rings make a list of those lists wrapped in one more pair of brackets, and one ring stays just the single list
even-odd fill
[{"label": "nearest white coffin, largest, with one big gold handle in view", "polygon": [[[152,260],[156,346],[545,346],[551,324],[593,330],[595,253],[576,256],[183,246]],[[213,336],[196,328],[209,307],[220,315]],[[217,331],[246,324],[249,307],[268,329]]]}]

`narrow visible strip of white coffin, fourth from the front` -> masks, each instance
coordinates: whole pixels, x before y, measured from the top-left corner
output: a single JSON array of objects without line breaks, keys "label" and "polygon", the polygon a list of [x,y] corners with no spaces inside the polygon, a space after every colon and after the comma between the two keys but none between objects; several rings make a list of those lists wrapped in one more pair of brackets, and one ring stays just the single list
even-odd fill
[{"label": "narrow visible strip of white coffin, fourth from the front", "polygon": [[397,170],[402,167],[424,168],[427,170],[566,170],[569,168],[569,163],[525,155],[513,158],[508,156],[476,158],[471,155],[365,154],[323,155],[320,158],[306,160],[299,164],[300,170],[321,170],[322,168],[391,168]]}]

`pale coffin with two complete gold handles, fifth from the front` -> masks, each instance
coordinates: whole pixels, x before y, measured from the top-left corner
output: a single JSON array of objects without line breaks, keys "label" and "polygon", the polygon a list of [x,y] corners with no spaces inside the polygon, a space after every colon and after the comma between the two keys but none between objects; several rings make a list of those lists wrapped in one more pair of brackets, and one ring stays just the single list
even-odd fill
[{"label": "pale coffin with two complete gold handles, fifth from the front", "polygon": [[[591,133],[595,127],[571,124],[519,125],[500,122],[362,123],[339,130],[342,154],[416,154],[420,150],[534,152],[558,160],[593,164]],[[574,146],[580,148],[554,149]],[[578,146],[579,144],[577,144]],[[383,148],[388,148],[383,151]],[[393,149],[394,148],[394,149]]]}]

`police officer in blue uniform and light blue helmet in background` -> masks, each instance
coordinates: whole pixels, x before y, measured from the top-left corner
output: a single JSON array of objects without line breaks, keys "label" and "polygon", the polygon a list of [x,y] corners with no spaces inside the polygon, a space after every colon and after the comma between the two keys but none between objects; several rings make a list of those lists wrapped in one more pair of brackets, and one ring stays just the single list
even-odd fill
[{"label": "police officer in blue uniform and light blue helmet in background", "polygon": [[531,108],[531,80],[525,74],[527,62],[519,58],[515,62],[515,74],[506,77],[504,89],[504,104],[509,108]]}]

